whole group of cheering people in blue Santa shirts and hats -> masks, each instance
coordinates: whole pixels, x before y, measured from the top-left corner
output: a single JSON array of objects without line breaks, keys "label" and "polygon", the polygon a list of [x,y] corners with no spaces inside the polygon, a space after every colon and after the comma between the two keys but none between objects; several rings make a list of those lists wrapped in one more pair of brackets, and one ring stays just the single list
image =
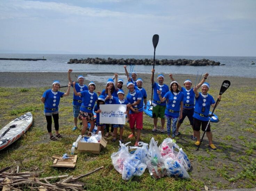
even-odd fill
[{"label": "whole group of cheering people in blue Santa shirts and hats", "polygon": [[[127,89],[128,93],[125,99],[125,92],[123,91],[122,79],[118,79],[118,74],[115,73],[113,78],[109,78],[106,83],[106,88],[102,92],[94,91],[96,86],[93,81],[89,83],[87,87],[84,84],[85,77],[79,75],[77,80],[78,82],[72,81],[71,72],[72,69],[68,70],[67,77],[69,80],[69,85],[66,93],[60,92],[60,82],[54,81],[52,84],[52,89],[46,90],[41,98],[41,101],[45,105],[44,114],[47,121],[47,130],[51,140],[57,140],[57,138],[62,138],[62,135],[59,134],[59,125],[58,125],[58,105],[61,97],[67,96],[70,93],[70,87],[73,87],[73,116],[74,116],[74,127],[72,130],[76,130],[78,126],[78,119],[82,120],[83,128],[81,135],[84,135],[88,123],[90,123],[90,128],[88,135],[94,129],[94,114],[96,113],[96,125],[97,132],[106,129],[105,136],[108,137],[111,133],[113,136],[112,141],[117,140],[118,128],[120,129],[119,140],[123,142],[123,125],[120,124],[102,124],[99,121],[99,115],[101,113],[100,105],[101,104],[123,104],[127,106],[127,121],[131,129],[131,134],[128,138],[133,138],[136,136],[135,146],[138,146],[140,139],[140,134],[143,128],[143,110],[147,105],[147,93],[144,88],[142,88],[143,80],[137,78],[136,72],[131,72],[128,74],[126,66],[124,66],[126,76],[127,76]],[[213,144],[213,135],[210,130],[210,125],[207,123],[209,121],[209,110],[210,106],[214,107],[215,101],[213,97],[208,94],[210,88],[209,83],[205,82],[208,73],[206,73],[203,79],[198,83],[194,84],[192,87],[192,81],[187,79],[184,81],[184,87],[182,87],[178,82],[173,78],[172,74],[169,74],[171,83],[170,86],[164,84],[164,75],[160,74],[157,76],[157,82],[154,81],[154,72],[151,70],[151,83],[153,88],[153,100],[152,100],[152,117],[154,127],[152,132],[157,131],[157,122],[158,118],[161,120],[161,129],[160,132],[165,132],[165,118],[167,119],[167,135],[175,139],[175,136],[180,135],[179,127],[183,123],[185,117],[188,117],[190,125],[193,129],[193,134],[191,139],[195,140],[195,145],[199,146],[200,144],[200,128],[202,131],[206,130],[206,135],[209,140],[209,147],[211,149],[216,149]],[[114,82],[115,80],[115,82]],[[201,87],[201,92],[198,92],[198,89]],[[219,101],[221,100],[221,95],[218,96]],[[143,106],[144,102],[144,106]],[[95,104],[96,103],[96,104]],[[216,103],[218,104],[218,102]],[[54,119],[54,126],[56,131],[56,137],[51,133],[51,123],[52,118]],[[109,131],[111,127],[111,132]],[[136,133],[135,133],[136,129]]]}]

